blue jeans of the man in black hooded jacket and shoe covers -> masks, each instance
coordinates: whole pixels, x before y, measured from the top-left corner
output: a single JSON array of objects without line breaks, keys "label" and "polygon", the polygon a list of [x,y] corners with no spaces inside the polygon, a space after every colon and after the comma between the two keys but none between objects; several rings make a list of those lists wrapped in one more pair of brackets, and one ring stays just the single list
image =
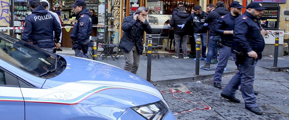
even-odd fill
[{"label": "blue jeans of the man in black hooded jacket and shoe covers", "polygon": [[221,36],[209,36],[209,46],[208,46],[208,53],[207,53],[207,59],[206,59],[207,64],[211,64],[212,58],[218,55],[216,54],[216,50],[218,49],[217,45],[220,39],[221,39]]}]

